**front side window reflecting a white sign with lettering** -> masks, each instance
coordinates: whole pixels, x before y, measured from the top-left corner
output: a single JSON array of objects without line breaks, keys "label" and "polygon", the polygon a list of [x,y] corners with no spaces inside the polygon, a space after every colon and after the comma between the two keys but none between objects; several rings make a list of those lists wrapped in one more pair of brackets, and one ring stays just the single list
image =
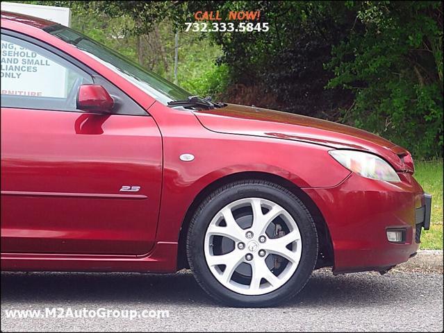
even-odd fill
[{"label": "front side window reflecting a white sign with lettering", "polygon": [[40,46],[1,35],[1,106],[76,110],[80,85],[92,78]]}]

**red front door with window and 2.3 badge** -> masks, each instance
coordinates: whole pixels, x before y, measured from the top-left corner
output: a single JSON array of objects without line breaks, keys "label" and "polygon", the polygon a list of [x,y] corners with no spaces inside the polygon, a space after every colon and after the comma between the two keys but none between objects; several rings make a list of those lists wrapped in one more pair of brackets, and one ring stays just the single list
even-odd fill
[{"label": "red front door with window and 2.3 badge", "polygon": [[[1,252],[148,253],[162,183],[154,119],[30,37],[2,33],[1,52]],[[92,83],[115,99],[111,114],[76,109]]]}]

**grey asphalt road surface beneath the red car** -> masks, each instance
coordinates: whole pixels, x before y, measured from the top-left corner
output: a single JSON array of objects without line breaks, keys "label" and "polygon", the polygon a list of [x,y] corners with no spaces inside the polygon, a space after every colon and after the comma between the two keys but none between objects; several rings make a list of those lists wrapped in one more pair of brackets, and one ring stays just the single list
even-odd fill
[{"label": "grey asphalt road surface beneath the red car", "polygon": [[[6,318],[8,309],[168,310],[168,318]],[[1,331],[441,331],[443,274],[317,271],[294,300],[235,309],[190,273],[1,273]]]}]

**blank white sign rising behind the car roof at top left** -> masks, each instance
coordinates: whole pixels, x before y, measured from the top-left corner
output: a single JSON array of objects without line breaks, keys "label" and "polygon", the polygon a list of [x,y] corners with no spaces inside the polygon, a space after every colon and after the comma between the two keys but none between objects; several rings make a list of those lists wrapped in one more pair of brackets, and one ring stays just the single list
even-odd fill
[{"label": "blank white sign rising behind the car roof at top left", "polygon": [[28,3],[15,3],[1,1],[1,10],[18,12],[19,14],[40,17],[52,22],[71,25],[71,10],[65,7],[29,5]]}]

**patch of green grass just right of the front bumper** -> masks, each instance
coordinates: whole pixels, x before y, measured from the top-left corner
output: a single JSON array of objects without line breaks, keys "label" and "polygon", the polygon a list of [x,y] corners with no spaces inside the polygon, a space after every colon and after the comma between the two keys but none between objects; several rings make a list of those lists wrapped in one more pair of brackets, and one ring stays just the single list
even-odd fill
[{"label": "patch of green grass just right of the front bumper", "polygon": [[431,194],[431,226],[422,231],[421,248],[443,249],[443,160],[415,162],[414,177]]}]

